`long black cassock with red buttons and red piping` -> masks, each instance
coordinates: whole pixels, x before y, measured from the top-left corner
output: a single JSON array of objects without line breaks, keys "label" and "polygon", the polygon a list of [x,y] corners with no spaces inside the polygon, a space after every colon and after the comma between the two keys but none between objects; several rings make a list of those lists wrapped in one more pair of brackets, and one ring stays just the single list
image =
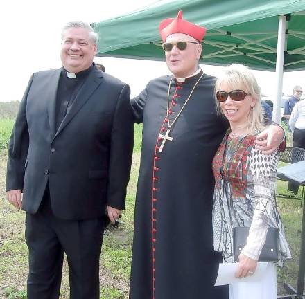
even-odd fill
[{"label": "long black cassock with red buttons and red piping", "polygon": [[[170,123],[188,98],[197,75],[171,82]],[[141,166],[134,219],[131,299],[227,299],[213,287],[222,261],[213,248],[211,163],[228,127],[216,114],[216,78],[204,74],[175,121],[162,152],[170,76],[152,80],[132,100],[143,122]]]}]

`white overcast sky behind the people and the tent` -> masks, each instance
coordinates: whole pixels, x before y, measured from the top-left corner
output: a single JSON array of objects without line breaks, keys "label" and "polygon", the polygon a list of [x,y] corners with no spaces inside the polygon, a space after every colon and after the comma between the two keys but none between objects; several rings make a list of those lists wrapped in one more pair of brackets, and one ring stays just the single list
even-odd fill
[{"label": "white overcast sky behind the people and the tent", "polygon": [[[3,1],[1,26],[0,101],[20,100],[30,75],[55,69],[60,62],[60,31],[67,21],[88,23],[110,19],[137,10],[155,0],[10,0]],[[171,16],[169,16],[171,17]],[[157,30],[157,28],[156,28]],[[148,80],[168,73],[164,62],[96,57],[107,73],[130,84],[132,96],[144,89]],[[204,72],[218,75],[217,66],[202,66]],[[275,93],[275,73],[254,71],[263,93]],[[305,89],[305,71],[284,75],[284,93],[291,94],[295,84]]]}]

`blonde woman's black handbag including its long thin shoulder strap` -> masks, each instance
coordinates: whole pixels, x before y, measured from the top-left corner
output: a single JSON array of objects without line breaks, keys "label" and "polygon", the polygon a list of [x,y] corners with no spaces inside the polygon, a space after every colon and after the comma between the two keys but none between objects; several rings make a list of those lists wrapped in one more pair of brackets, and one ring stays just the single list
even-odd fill
[{"label": "blonde woman's black handbag including its long thin shoulder strap", "polygon": [[[225,153],[227,152],[227,143],[225,145],[225,151],[223,153],[223,163],[225,161]],[[227,206],[229,210],[229,218],[231,221],[233,231],[233,255],[234,262],[238,261],[238,256],[241,254],[242,249],[247,244],[247,236],[249,235],[249,228],[245,226],[233,227],[233,221],[231,211],[229,209],[229,198],[227,196],[227,185],[225,182],[225,176],[223,173],[223,166],[220,169],[221,179],[223,181],[223,188],[225,189],[225,197],[227,198]],[[275,208],[277,211],[277,198],[275,197]],[[279,213],[277,212],[277,224],[279,226]],[[261,249],[259,255],[259,262],[277,262],[279,261],[279,228],[272,228],[269,226],[265,244]]]}]

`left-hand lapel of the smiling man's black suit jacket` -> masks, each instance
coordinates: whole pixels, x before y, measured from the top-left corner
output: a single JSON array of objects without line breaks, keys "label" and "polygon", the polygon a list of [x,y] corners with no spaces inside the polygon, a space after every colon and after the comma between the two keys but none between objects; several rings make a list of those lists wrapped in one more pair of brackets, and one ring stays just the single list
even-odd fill
[{"label": "left-hand lapel of the smiling man's black suit jacket", "polygon": [[60,73],[62,69],[56,69],[51,77],[49,84],[49,91],[46,90],[45,94],[49,95],[48,97],[48,115],[49,115],[49,125],[51,130],[51,136],[55,135],[55,110],[56,110],[56,98],[58,91],[58,83],[60,80]]}]

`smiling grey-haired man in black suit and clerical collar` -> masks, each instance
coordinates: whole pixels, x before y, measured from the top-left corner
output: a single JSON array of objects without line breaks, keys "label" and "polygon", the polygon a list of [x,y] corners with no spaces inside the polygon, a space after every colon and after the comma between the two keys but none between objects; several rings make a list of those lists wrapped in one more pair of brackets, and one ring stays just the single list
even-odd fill
[{"label": "smiling grey-haired man in black suit and clerical collar", "polygon": [[88,24],[62,30],[62,68],[30,78],[10,138],[6,197],[26,211],[28,299],[59,298],[67,254],[71,298],[99,298],[105,210],[125,207],[133,147],[130,88],[93,63]]}]

